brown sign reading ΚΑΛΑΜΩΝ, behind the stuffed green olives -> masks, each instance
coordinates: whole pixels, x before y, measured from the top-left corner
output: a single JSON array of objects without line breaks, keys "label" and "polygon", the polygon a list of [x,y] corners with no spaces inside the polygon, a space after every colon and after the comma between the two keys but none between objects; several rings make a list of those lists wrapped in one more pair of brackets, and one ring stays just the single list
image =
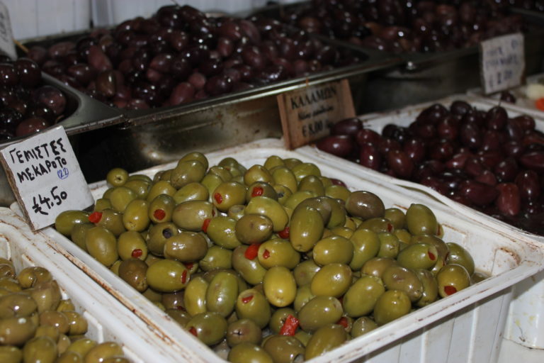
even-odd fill
[{"label": "brown sign reading \u039a\u0391\u039b\u0391\u039c\u03a9\u039d, behind the stuffed green olives", "polygon": [[285,146],[294,149],[329,135],[329,127],[355,117],[347,79],[309,85],[277,96]]}]

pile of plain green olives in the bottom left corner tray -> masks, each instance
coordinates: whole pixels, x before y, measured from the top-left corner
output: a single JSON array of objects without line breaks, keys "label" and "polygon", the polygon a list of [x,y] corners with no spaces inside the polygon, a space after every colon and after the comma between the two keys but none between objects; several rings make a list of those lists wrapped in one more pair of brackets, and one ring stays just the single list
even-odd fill
[{"label": "pile of plain green olives in the bottom left corner tray", "polygon": [[128,363],[115,342],[85,336],[88,323],[43,267],[18,274],[0,258],[0,362]]}]

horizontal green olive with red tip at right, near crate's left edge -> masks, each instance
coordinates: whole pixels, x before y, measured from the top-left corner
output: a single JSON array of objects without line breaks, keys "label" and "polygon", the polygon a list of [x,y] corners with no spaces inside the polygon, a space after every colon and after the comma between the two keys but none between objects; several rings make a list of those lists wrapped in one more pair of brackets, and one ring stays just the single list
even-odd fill
[{"label": "horizontal green olive with red tip at right, near crate's left edge", "polygon": [[162,259],[147,269],[147,284],[161,292],[174,292],[185,288],[190,279],[187,267],[173,259]]}]

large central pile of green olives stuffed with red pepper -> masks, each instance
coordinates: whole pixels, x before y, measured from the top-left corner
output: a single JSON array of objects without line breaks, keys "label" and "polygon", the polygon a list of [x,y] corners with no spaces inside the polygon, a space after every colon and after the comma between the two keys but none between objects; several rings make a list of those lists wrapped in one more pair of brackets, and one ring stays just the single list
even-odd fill
[{"label": "large central pile of green olives stuffed with red pepper", "polygon": [[192,152],[106,180],[57,230],[231,362],[310,359],[483,278],[428,207],[385,208],[297,159]]}]

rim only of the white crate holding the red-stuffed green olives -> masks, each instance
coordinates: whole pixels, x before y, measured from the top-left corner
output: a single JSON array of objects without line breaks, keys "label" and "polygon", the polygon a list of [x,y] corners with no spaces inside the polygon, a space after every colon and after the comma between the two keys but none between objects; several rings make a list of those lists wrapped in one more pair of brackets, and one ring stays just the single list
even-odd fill
[{"label": "rim only of the white crate holding the red-stuffed green olives", "polygon": [[[512,236],[498,230],[485,230],[485,225],[466,218],[463,213],[455,211],[442,203],[430,199],[416,191],[410,191],[399,186],[388,184],[385,181],[370,181],[363,179],[361,173],[356,168],[351,167],[353,163],[346,160],[327,160],[327,157],[319,157],[316,160],[315,155],[309,156],[306,153],[297,151],[288,151],[283,147],[279,140],[260,140],[259,142],[233,147],[220,152],[211,152],[207,154],[210,165],[216,164],[223,157],[234,157],[235,159],[248,166],[249,164],[263,163],[266,157],[278,155],[280,157],[297,157],[303,162],[314,162],[326,176],[334,176],[344,180],[351,186],[352,190],[363,189],[375,191],[378,196],[385,199],[386,206],[399,206],[407,208],[409,203],[424,203],[436,214],[437,218],[443,223],[444,230],[448,236],[448,241],[460,242],[467,248],[473,257],[479,269],[492,275],[478,284],[470,286],[467,289],[458,291],[448,298],[436,301],[425,308],[418,309],[392,323],[384,325],[372,332],[346,342],[346,344],[327,352],[320,357],[316,357],[311,362],[351,362],[353,359],[365,357],[372,352],[376,352],[382,347],[391,345],[394,342],[402,340],[410,333],[417,330],[425,330],[432,323],[440,319],[454,319],[457,321],[462,316],[456,316],[463,308],[472,309],[489,296],[498,294],[506,296],[506,303],[509,303],[509,294],[511,286],[518,281],[536,274],[544,269],[544,251],[538,248],[532,240],[523,238],[523,236]],[[346,164],[344,164],[346,163]],[[154,167],[143,170],[137,174],[147,174],[152,176],[155,172],[173,167],[175,163],[165,164],[161,167]],[[105,181],[91,185],[95,198],[101,196],[106,190]],[[387,201],[387,203],[386,203]],[[404,206],[402,205],[404,203]],[[16,204],[12,208],[17,209]],[[164,337],[168,337],[176,349],[181,351],[180,361],[189,362],[224,362],[217,354],[198,341],[196,337],[183,330],[166,313],[154,306],[147,298],[132,289],[125,281],[117,277],[108,268],[96,261],[77,245],[56,232],[53,228],[43,230],[53,243],[60,245],[60,253],[67,257],[72,263],[77,265],[94,281],[98,282],[106,291],[113,294],[115,298],[135,313],[152,330],[160,332]],[[480,253],[476,253],[480,251]],[[492,299],[493,300],[493,299]],[[499,304],[504,306],[504,303]],[[499,317],[505,317],[506,313],[502,310],[493,311]],[[467,318],[465,318],[467,320]],[[469,322],[472,321],[468,319]],[[501,324],[499,324],[501,325]],[[474,329],[474,328],[472,328]],[[504,332],[504,324],[498,326],[498,333]],[[488,332],[479,332],[486,335]],[[450,337],[444,339],[449,342]],[[402,345],[402,343],[399,343]],[[494,344],[491,342],[490,344]],[[395,347],[397,345],[393,344]],[[468,347],[460,348],[468,349]],[[167,347],[167,349],[174,349]],[[494,350],[497,352],[498,348]],[[492,355],[491,357],[495,357]],[[378,362],[391,362],[390,360],[378,360]],[[401,362],[398,360],[397,362]],[[450,360],[448,362],[462,362]]]}]

